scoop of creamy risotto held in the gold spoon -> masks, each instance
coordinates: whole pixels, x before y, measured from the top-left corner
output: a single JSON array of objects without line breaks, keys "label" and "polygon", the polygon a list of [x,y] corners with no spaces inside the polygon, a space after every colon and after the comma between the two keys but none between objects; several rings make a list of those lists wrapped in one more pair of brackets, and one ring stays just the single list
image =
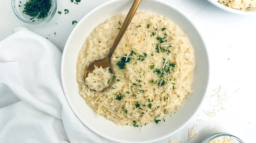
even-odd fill
[{"label": "scoop of creamy risotto held in the gold spoon", "polygon": [[113,74],[110,73],[109,67],[103,69],[101,66],[98,68],[94,65],[94,68],[85,78],[85,84],[92,90],[102,91],[112,82]]}]

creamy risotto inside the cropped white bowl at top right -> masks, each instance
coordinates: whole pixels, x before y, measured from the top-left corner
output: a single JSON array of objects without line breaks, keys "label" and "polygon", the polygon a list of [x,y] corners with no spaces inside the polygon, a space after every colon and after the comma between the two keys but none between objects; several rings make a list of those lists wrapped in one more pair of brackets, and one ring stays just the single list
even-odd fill
[{"label": "creamy risotto inside the cropped white bowl at top right", "polygon": [[235,9],[249,10],[256,8],[256,0],[218,0],[217,2]]}]

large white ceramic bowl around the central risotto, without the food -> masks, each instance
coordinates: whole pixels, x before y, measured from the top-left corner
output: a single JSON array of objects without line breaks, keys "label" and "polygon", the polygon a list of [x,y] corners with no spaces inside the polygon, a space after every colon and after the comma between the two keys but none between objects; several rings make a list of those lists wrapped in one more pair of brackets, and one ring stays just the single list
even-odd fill
[{"label": "large white ceramic bowl around the central risotto, without the food", "polygon": [[138,11],[167,16],[188,35],[195,50],[196,66],[192,85],[194,93],[191,94],[191,98],[185,100],[184,106],[177,110],[176,114],[166,118],[165,122],[161,121],[158,124],[152,123],[142,127],[142,132],[139,128],[117,126],[112,121],[97,116],[78,92],[76,83],[77,55],[86,37],[96,25],[116,14],[127,14],[132,3],[133,0],[112,0],[98,6],[83,17],[66,42],[61,61],[61,81],[71,109],[77,118],[93,132],[121,143],[149,143],[175,134],[190,121],[203,101],[208,82],[209,65],[205,45],[200,34],[180,10],[161,0],[142,0]]}]

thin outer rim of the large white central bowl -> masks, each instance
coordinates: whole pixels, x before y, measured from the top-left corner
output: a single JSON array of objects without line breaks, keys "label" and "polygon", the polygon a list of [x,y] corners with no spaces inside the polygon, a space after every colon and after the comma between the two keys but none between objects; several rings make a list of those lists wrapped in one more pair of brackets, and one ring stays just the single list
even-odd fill
[{"label": "thin outer rim of the large white central bowl", "polygon": [[[62,58],[61,58],[61,67],[60,67],[60,73],[61,73],[61,84],[62,84],[62,87],[64,85],[64,76],[63,76],[63,69],[64,69],[64,57],[65,57],[65,54],[66,54],[66,49],[67,49],[67,43],[70,41],[71,39],[71,35],[74,34],[75,30],[77,29],[77,27],[81,24],[82,21],[84,21],[84,19],[86,19],[87,17],[89,17],[93,12],[97,11],[98,9],[102,8],[102,7],[105,7],[106,5],[108,4],[111,4],[111,3],[115,3],[115,2],[118,2],[118,1],[122,1],[122,0],[110,0],[110,1],[107,1],[99,6],[97,6],[96,8],[92,9],[90,12],[88,12],[75,26],[75,28],[72,30],[69,38],[67,39],[66,43],[65,43],[65,46],[64,46],[64,49],[63,49],[63,52],[62,52]],[[198,108],[194,111],[194,113],[192,114],[192,116],[187,119],[186,122],[183,123],[183,125],[181,125],[179,128],[177,128],[175,131],[173,131],[172,133],[170,134],[167,134],[167,135],[163,135],[163,136],[160,136],[158,138],[155,138],[153,140],[150,140],[150,141],[133,141],[133,143],[152,143],[152,142],[157,142],[157,141],[160,141],[162,139],[165,139],[165,138],[168,138],[169,136],[171,135],[174,135],[175,133],[177,133],[178,131],[180,131],[182,128],[184,128],[191,120],[192,118],[196,115],[196,113],[198,112],[198,110],[200,109],[200,107],[202,106],[203,104],[203,101],[205,100],[206,98],[206,91],[208,89],[208,83],[209,83],[209,73],[210,73],[210,70],[209,70],[209,57],[208,57],[208,52],[207,52],[207,49],[206,49],[206,45],[205,45],[205,42],[203,40],[203,37],[202,37],[202,34],[198,31],[198,28],[193,24],[193,22],[190,20],[190,18],[188,18],[188,16],[182,12],[179,8],[177,8],[176,6],[172,5],[171,3],[168,3],[168,2],[165,2],[165,1],[162,1],[162,0],[151,0],[151,1],[155,1],[155,2],[158,2],[158,3],[162,3],[164,5],[167,5],[171,8],[173,8],[174,10],[178,11],[185,19],[187,19],[192,26],[194,26],[194,28],[196,29],[196,31],[198,32],[198,35],[199,37],[202,39],[202,45],[205,47],[205,52],[207,53],[206,54],[206,60],[207,60],[207,71],[208,71],[208,74],[207,74],[207,83],[206,83],[206,88],[205,88],[205,91],[204,91],[204,95],[203,95],[203,98],[201,100],[201,102],[199,103],[198,105]],[[120,142],[120,143],[131,143],[131,142],[126,142],[126,141],[123,141],[123,140],[119,140],[119,139],[115,139],[115,138],[112,138],[112,137],[109,137],[107,135],[102,135],[100,134],[99,132],[97,132],[96,130],[94,130],[93,128],[91,128],[90,126],[87,126],[87,123],[86,122],[83,122],[82,119],[80,119],[80,116],[79,114],[77,114],[77,111],[75,110],[75,107],[71,104],[71,101],[69,100],[69,98],[67,97],[66,95],[66,89],[62,88],[63,89],[63,92],[64,92],[64,95],[65,95],[65,98],[70,106],[70,108],[72,109],[73,113],[75,114],[75,116],[85,125],[85,127],[87,127],[88,129],[90,129],[91,131],[93,131],[94,133],[96,133],[97,135],[101,136],[101,137],[104,137],[108,140],[112,140],[112,141],[115,141],[115,142]]]}]

